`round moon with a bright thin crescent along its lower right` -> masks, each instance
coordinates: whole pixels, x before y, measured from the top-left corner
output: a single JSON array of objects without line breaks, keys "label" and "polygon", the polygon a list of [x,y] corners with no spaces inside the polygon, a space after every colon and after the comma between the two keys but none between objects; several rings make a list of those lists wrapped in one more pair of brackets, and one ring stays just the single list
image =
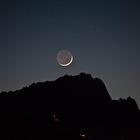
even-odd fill
[{"label": "round moon with a bright thin crescent along its lower right", "polygon": [[73,55],[68,50],[61,50],[58,52],[56,59],[60,66],[66,67],[73,62]]}]

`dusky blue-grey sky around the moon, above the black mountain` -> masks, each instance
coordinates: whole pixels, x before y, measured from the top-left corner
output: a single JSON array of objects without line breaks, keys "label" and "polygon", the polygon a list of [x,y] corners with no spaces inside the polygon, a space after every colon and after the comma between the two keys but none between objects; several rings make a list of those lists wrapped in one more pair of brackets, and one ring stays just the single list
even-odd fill
[{"label": "dusky blue-grey sky around the moon, above the black mountain", "polygon": [[[61,49],[71,66],[57,64]],[[140,106],[139,0],[0,1],[0,91],[80,72]]]}]

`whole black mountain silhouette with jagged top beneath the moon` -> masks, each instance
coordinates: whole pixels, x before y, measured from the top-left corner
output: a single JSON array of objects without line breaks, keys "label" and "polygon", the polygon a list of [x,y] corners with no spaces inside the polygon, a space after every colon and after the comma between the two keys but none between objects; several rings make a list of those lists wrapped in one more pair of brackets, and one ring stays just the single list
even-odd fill
[{"label": "whole black mountain silhouette with jagged top beneath the moon", "polygon": [[131,97],[112,100],[99,78],[81,73],[0,94],[0,139],[139,140]]}]

